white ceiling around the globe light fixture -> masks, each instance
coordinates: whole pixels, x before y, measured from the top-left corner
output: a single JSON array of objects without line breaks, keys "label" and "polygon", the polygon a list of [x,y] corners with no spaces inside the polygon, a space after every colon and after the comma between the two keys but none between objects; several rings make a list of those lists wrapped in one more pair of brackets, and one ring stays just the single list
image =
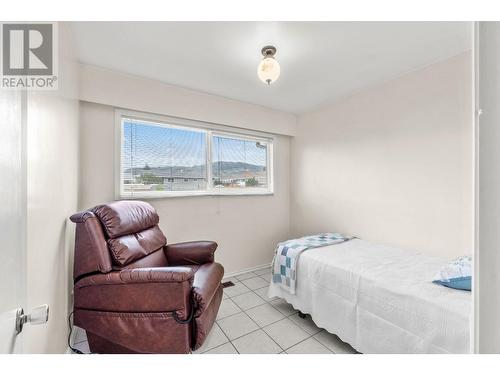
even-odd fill
[{"label": "white ceiling around the globe light fixture", "polygon": [[[304,113],[471,48],[467,22],[75,22],[81,62]],[[257,78],[272,44],[281,77]]]}]

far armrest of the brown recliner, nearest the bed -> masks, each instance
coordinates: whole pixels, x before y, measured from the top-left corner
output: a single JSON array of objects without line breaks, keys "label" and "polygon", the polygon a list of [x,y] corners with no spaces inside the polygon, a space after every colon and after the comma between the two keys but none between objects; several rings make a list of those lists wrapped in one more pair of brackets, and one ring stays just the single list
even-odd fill
[{"label": "far armrest of the brown recliner, nearest the bed", "polygon": [[217,243],[191,241],[166,245],[163,249],[169,265],[201,265],[213,263]]}]

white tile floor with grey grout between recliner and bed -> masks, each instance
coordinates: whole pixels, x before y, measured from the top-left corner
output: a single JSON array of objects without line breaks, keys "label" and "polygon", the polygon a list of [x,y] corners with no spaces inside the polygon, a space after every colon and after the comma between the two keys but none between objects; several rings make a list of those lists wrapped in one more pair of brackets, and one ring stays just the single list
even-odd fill
[{"label": "white tile floor with grey grout between recliner and bed", "polygon": [[[309,316],[300,318],[286,301],[268,298],[269,278],[267,268],[224,280],[235,286],[224,289],[217,320],[196,354],[356,353],[337,336],[318,328]],[[74,346],[89,352],[80,329]]]}]

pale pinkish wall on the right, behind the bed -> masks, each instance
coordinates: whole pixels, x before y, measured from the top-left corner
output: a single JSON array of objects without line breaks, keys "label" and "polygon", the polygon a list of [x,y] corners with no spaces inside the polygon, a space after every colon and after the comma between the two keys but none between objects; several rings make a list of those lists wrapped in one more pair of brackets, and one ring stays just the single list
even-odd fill
[{"label": "pale pinkish wall on the right, behind the bed", "polygon": [[300,116],[291,156],[293,235],[470,254],[470,52]]}]

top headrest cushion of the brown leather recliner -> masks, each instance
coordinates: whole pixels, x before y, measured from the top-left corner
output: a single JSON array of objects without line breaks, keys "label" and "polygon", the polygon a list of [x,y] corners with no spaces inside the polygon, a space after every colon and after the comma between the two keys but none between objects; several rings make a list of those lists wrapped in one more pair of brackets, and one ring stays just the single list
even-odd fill
[{"label": "top headrest cushion of the brown leather recliner", "polygon": [[115,201],[92,209],[101,221],[108,238],[137,233],[160,221],[155,209],[141,201]]}]

